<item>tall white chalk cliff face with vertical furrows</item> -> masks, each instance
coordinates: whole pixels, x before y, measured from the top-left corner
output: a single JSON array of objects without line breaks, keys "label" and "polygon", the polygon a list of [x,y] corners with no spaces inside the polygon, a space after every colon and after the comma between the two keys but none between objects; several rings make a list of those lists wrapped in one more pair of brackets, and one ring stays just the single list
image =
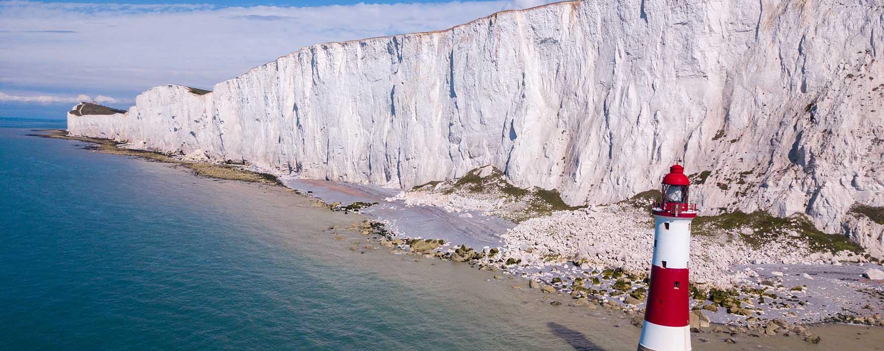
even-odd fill
[{"label": "tall white chalk cliff face with vertical furrows", "polygon": [[655,189],[705,213],[807,213],[877,256],[884,3],[576,1],[300,49],[193,93],[159,86],[72,134],[402,188],[494,165],[569,204]]}]

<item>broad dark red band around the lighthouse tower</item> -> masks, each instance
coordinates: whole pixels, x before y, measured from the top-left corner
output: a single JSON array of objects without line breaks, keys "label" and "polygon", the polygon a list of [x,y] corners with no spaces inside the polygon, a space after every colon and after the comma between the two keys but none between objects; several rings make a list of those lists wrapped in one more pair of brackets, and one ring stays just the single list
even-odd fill
[{"label": "broad dark red band around the lighthouse tower", "polygon": [[689,325],[688,295],[687,269],[652,265],[651,292],[644,320],[655,325]]}]

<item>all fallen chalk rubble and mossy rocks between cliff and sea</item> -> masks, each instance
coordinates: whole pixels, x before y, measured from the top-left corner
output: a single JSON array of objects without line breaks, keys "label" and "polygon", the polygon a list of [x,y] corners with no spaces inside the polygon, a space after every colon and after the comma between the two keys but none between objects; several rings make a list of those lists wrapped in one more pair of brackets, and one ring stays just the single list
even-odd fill
[{"label": "all fallen chalk rubble and mossy rocks between cliff and sea", "polygon": [[[478,168],[466,176],[469,182],[455,179],[428,183],[388,200],[404,200],[408,205],[435,204],[452,215],[476,210],[509,218],[519,217],[513,213],[523,214],[523,206],[514,206],[522,202],[522,195],[513,194],[529,191],[514,191],[509,188],[511,184],[499,184],[506,181],[497,179],[499,174],[489,168]],[[522,275],[541,282],[537,288],[575,297],[579,305],[586,304],[581,299],[591,298],[637,310],[644,306],[652,257],[650,205],[652,198],[636,197],[616,204],[520,217],[517,226],[500,235],[500,248],[474,250],[455,242],[441,245],[436,255],[471,262],[480,269]],[[810,236],[793,228],[765,228],[781,233],[759,235],[769,240],[746,243],[744,235],[754,237],[751,234],[756,230],[761,229],[718,230],[691,238],[690,289],[696,297],[692,303],[705,310],[713,322],[736,323],[754,330],[758,323],[774,318],[815,323],[845,317],[845,310],[855,310],[857,315],[864,314],[865,306],[878,306],[875,309],[880,310],[881,303],[874,296],[884,293],[881,287],[851,281],[860,277],[861,267],[838,274],[831,274],[832,269],[814,268],[840,267],[842,263],[862,265],[869,262],[865,255],[850,250],[821,250],[809,242]],[[819,279],[813,280],[808,273]],[[718,297],[713,301],[710,296]],[[873,321],[873,325],[878,323]],[[781,332],[789,330],[783,328]]]}]

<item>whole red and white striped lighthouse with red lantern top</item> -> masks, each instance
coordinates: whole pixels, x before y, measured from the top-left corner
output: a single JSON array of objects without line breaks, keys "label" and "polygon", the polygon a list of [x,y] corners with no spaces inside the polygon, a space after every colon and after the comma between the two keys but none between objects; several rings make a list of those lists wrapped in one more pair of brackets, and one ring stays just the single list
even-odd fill
[{"label": "whole red and white striped lighthouse with red lantern top", "polygon": [[660,201],[652,208],[651,287],[638,351],[690,350],[690,221],[697,217],[697,205],[689,202],[689,188],[684,168],[670,167],[663,177]]}]

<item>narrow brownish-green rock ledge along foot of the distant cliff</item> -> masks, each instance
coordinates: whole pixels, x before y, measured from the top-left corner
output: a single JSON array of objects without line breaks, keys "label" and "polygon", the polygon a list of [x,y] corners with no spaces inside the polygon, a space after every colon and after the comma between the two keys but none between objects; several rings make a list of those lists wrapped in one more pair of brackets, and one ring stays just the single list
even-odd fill
[{"label": "narrow brownish-green rock ledge along foot of the distant cliff", "polygon": [[251,171],[248,169],[243,169],[227,164],[217,164],[217,163],[208,163],[208,162],[191,162],[191,161],[179,161],[175,158],[171,157],[168,153],[158,153],[155,151],[148,150],[133,150],[118,147],[120,143],[115,140],[110,139],[101,139],[101,138],[83,138],[83,137],[74,137],[67,135],[67,131],[64,130],[51,130],[46,134],[32,134],[35,137],[42,138],[62,138],[69,140],[77,140],[83,141],[87,143],[92,143],[94,147],[88,147],[88,149],[95,150],[99,153],[111,153],[118,154],[123,156],[131,156],[138,157],[148,161],[156,161],[156,162],[166,162],[166,163],[176,163],[181,166],[184,166],[192,171],[194,171],[195,175],[206,176],[210,178],[217,179],[225,179],[232,181],[241,181],[241,182],[249,182],[249,183],[262,183],[268,185],[282,185],[279,182],[279,179],[275,175],[270,175],[266,173],[260,173]]}]

